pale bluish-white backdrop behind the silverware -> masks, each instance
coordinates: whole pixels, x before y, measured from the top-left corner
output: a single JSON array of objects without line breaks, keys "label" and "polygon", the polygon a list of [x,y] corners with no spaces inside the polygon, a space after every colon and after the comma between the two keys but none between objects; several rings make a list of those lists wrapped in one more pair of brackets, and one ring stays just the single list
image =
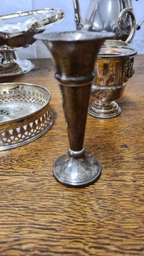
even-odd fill
[{"label": "pale bluish-white backdrop behind the silverware", "polygon": [[[89,4],[89,0],[79,0],[82,16],[84,18]],[[136,22],[144,16],[144,0],[135,1],[132,0],[134,14]],[[42,8],[61,8],[65,11],[64,21],[58,25],[52,27],[50,30],[55,31],[68,31],[75,30],[74,12],[72,0],[0,0],[0,15],[10,14],[17,11],[37,10]],[[144,54],[144,23],[139,31],[133,38],[133,42],[130,44],[133,48],[138,50],[139,54]],[[29,48],[18,51],[18,55],[21,58],[46,58],[49,57],[49,52],[46,46],[41,41],[37,41]]]}]

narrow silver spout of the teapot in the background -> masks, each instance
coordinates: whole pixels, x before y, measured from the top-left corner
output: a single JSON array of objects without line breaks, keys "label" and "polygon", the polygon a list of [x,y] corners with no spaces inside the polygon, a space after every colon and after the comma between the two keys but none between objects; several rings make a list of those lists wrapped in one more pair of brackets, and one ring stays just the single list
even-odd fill
[{"label": "narrow silver spout of the teapot in the background", "polygon": [[79,0],[73,0],[74,12],[75,12],[75,23],[77,30],[88,30],[88,26],[82,21],[80,12]]}]

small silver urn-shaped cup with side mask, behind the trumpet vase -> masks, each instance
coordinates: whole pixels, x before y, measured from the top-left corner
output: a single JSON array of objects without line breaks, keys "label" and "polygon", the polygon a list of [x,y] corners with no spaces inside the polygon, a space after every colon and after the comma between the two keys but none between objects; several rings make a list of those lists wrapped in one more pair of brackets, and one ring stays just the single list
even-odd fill
[{"label": "small silver urn-shaped cup with side mask, behind the trumpet vase", "polygon": [[94,117],[111,118],[121,113],[114,100],[124,92],[128,78],[134,74],[133,62],[136,49],[120,46],[103,46],[95,64],[95,79],[91,96],[94,99],[88,114]]}]

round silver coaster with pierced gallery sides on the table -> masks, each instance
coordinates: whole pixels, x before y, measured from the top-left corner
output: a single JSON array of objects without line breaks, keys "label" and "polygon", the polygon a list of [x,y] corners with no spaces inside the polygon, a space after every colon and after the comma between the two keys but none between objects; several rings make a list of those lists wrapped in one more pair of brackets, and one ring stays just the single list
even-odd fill
[{"label": "round silver coaster with pierced gallery sides on the table", "polygon": [[50,129],[50,98],[36,84],[0,84],[0,151],[29,143]]}]

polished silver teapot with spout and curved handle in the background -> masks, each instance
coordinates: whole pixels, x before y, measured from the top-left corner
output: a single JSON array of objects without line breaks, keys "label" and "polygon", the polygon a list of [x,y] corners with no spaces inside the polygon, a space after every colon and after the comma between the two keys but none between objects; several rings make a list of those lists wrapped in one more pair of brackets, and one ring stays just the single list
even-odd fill
[{"label": "polished silver teapot with spout and curved handle in the background", "polygon": [[[130,43],[136,31],[132,0],[90,0],[85,22],[82,21],[79,0],[73,0],[77,30],[114,32],[115,39]],[[142,19],[137,26],[144,22]]]}]

